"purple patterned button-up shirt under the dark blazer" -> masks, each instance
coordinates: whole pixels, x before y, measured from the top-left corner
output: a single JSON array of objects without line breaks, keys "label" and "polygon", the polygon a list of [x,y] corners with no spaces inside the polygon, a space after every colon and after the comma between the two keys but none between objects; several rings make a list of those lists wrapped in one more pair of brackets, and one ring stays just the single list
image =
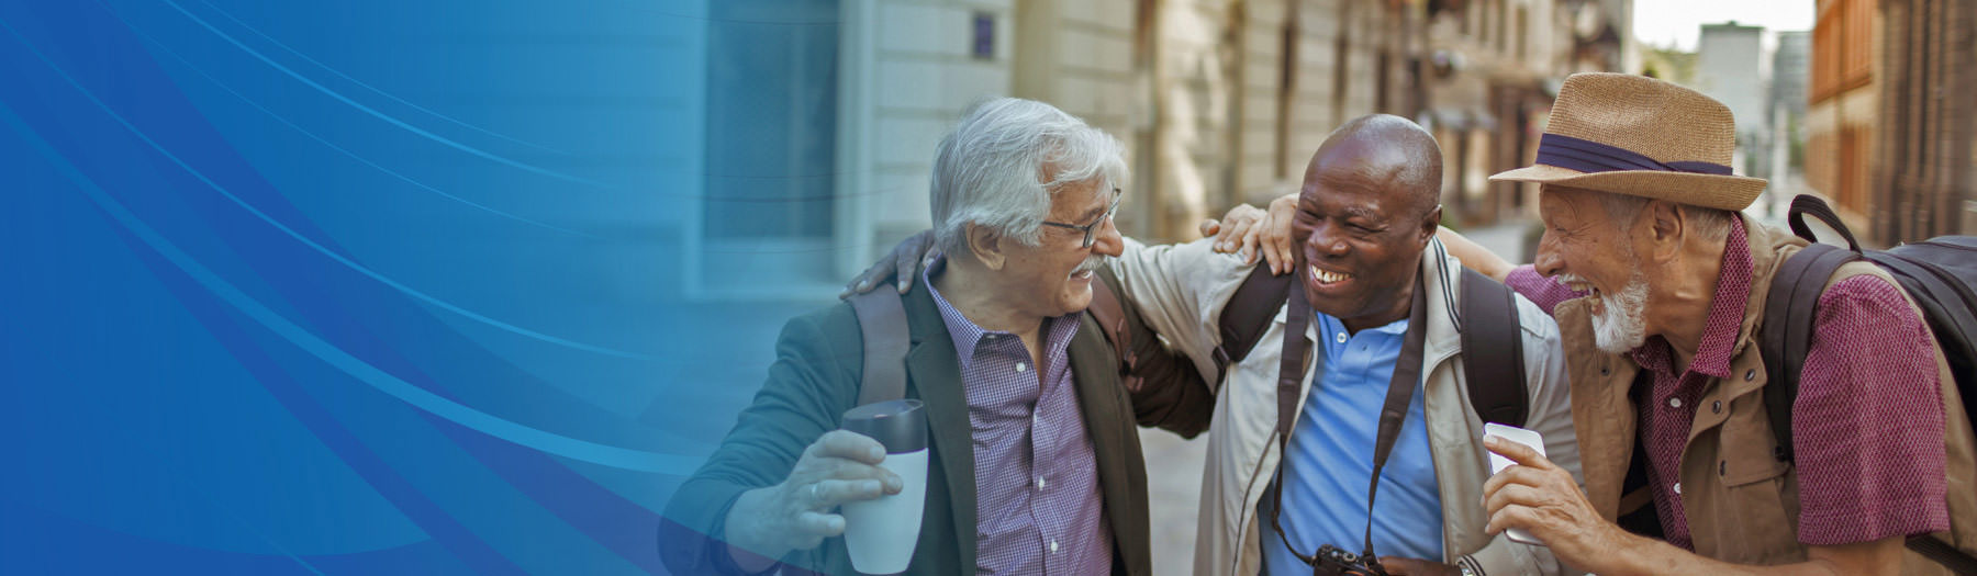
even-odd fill
[{"label": "purple patterned button-up shirt under the dark blazer", "polygon": [[975,428],[975,568],[981,574],[1111,572],[1111,525],[1072,383],[1077,314],[1044,320],[1044,359],[1032,363],[1020,337],[975,325],[925,274],[921,282],[955,339]]}]

